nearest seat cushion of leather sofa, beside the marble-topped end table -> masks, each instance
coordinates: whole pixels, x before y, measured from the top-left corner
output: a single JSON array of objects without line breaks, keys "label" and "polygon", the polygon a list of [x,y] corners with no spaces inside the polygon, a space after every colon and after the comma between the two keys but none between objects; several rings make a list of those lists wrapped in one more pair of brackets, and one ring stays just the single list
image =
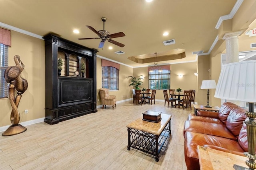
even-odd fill
[{"label": "nearest seat cushion of leather sofa, beside the marble-topped end table", "polygon": [[197,145],[215,145],[236,152],[244,152],[237,141],[223,137],[186,131],[184,139],[184,156],[188,170],[200,169]]}]

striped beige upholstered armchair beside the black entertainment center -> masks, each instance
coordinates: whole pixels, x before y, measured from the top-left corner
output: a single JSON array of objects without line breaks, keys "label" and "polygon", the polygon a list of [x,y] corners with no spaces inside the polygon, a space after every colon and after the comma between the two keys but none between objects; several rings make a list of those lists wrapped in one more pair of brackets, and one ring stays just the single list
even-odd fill
[{"label": "striped beige upholstered armchair beside the black entertainment center", "polygon": [[102,101],[102,109],[104,109],[104,106],[106,108],[106,105],[112,105],[113,109],[116,107],[116,96],[109,95],[108,89],[100,88],[100,98]]}]

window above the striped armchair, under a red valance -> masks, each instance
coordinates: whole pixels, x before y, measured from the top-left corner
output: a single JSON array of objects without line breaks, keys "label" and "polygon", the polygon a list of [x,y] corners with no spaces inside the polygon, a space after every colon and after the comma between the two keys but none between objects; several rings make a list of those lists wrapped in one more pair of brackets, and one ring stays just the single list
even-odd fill
[{"label": "window above the striped armchair, under a red valance", "polygon": [[112,66],[102,66],[102,88],[119,90],[119,70]]}]

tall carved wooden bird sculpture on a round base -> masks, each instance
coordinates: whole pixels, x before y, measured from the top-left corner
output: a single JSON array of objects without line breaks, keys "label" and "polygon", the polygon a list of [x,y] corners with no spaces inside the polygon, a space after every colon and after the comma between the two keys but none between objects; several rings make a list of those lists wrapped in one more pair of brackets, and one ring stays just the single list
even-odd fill
[{"label": "tall carved wooden bird sculpture on a round base", "polygon": [[[20,61],[20,56],[14,56],[15,66],[8,66],[4,70],[4,78],[6,82],[10,83],[8,85],[9,100],[12,106],[12,113],[10,115],[10,120],[12,125],[2,133],[2,136],[16,135],[27,130],[26,127],[19,124],[20,122],[20,113],[18,111],[18,106],[22,94],[28,88],[28,82],[20,76],[20,73],[24,69],[24,64]],[[15,97],[15,89],[17,90],[17,96]]]}]

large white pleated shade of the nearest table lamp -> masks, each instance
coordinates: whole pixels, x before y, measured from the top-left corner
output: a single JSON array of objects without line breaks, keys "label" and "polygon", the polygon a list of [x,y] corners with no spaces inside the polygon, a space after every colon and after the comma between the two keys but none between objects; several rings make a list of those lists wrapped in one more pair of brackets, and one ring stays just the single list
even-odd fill
[{"label": "large white pleated shade of the nearest table lamp", "polygon": [[256,60],[222,66],[214,97],[255,103]]}]

